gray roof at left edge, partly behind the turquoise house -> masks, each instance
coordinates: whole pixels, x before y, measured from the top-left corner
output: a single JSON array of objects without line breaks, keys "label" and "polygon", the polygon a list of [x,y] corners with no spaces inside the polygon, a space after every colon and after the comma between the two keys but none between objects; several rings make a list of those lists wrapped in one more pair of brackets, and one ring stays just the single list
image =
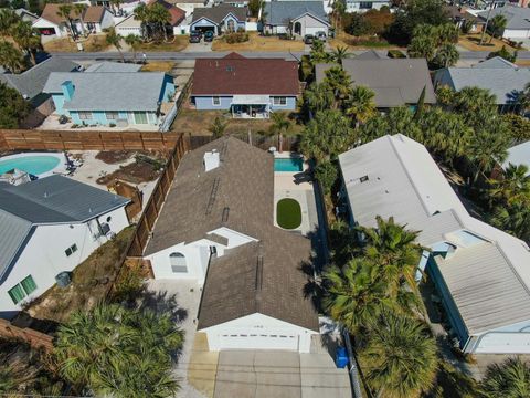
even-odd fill
[{"label": "gray roof at left edge, partly behind the turquoise house", "polygon": [[52,56],[20,74],[0,74],[0,82],[7,83],[28,100],[43,92],[52,72],[72,72],[80,65],[75,62]]}]

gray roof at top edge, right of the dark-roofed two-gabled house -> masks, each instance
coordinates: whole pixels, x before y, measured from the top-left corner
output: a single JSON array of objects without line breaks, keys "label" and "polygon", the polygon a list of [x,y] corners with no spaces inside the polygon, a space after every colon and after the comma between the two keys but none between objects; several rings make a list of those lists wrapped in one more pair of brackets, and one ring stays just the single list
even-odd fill
[{"label": "gray roof at top edge, right of the dark-roofed two-gabled house", "polygon": [[294,20],[304,14],[310,14],[324,23],[329,24],[328,14],[321,1],[267,1],[265,2],[266,24],[287,25],[288,20]]}]

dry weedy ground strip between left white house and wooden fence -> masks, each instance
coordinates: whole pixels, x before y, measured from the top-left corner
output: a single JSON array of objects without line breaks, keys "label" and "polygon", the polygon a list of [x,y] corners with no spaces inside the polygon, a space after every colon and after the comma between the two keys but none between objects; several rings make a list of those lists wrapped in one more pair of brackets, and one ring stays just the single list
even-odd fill
[{"label": "dry weedy ground strip between left white house and wooden fence", "polygon": [[40,320],[64,322],[78,310],[89,310],[103,300],[117,272],[117,265],[132,237],[129,227],[95,250],[72,272],[72,283],[65,287],[54,285],[30,303],[28,313]]}]

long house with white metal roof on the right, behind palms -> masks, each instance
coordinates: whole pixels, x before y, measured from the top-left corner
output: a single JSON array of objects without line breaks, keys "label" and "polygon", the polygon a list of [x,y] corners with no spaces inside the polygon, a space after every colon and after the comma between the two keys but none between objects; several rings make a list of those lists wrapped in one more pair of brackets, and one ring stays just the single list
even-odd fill
[{"label": "long house with white metal roof on the right, behind palms", "polygon": [[423,145],[386,135],[339,155],[351,226],[420,231],[426,270],[464,353],[530,353],[530,249],[473,218]]}]

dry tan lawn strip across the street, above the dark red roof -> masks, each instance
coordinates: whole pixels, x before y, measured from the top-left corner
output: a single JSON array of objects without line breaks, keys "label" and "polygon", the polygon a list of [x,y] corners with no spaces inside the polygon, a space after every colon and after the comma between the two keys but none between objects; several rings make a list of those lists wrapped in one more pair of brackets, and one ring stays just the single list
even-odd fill
[{"label": "dry tan lawn strip across the street, above the dark red roof", "polygon": [[257,32],[248,33],[244,43],[226,43],[223,38],[212,43],[213,51],[304,51],[301,40],[280,40],[276,36],[261,36]]}]

